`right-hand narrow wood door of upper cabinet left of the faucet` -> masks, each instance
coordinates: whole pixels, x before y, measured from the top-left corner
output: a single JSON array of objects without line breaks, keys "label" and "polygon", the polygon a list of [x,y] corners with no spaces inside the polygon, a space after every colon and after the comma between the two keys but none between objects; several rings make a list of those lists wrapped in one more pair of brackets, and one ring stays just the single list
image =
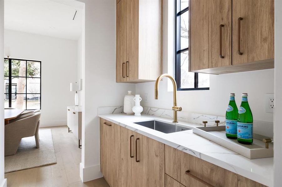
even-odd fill
[{"label": "right-hand narrow wood door of upper cabinet left of the faucet", "polygon": [[126,81],[138,79],[139,0],[126,1]]}]

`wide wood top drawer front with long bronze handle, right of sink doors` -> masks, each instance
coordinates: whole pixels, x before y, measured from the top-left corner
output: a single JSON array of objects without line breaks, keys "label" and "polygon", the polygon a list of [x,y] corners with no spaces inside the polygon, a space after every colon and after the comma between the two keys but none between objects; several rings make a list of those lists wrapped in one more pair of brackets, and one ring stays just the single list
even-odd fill
[{"label": "wide wood top drawer front with long bronze handle, right of sink doors", "polygon": [[237,187],[237,175],[235,173],[171,146],[165,146],[165,161],[167,175],[187,187]]}]

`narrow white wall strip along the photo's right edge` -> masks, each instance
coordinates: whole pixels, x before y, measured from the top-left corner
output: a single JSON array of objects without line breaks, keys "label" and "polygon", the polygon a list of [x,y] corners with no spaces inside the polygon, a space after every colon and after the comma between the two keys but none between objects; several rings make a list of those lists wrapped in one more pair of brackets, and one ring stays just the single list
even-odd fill
[{"label": "narrow white wall strip along the photo's right edge", "polygon": [[275,108],[274,108],[274,187],[279,187],[282,184],[282,125],[281,125],[281,114],[282,114],[282,1],[274,1],[274,12],[275,12],[275,31],[274,31],[274,97],[275,97]]}]

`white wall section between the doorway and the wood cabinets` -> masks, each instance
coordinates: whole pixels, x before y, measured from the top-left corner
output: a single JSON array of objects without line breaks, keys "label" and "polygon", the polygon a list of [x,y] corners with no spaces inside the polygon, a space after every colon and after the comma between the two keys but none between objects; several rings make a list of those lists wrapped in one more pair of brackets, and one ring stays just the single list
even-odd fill
[{"label": "white wall section between the doorway and the wood cabinets", "polygon": [[85,60],[83,60],[82,160],[83,182],[101,177],[100,129],[97,108],[121,106],[127,90],[135,84],[115,83],[115,6],[111,1],[85,3]]}]

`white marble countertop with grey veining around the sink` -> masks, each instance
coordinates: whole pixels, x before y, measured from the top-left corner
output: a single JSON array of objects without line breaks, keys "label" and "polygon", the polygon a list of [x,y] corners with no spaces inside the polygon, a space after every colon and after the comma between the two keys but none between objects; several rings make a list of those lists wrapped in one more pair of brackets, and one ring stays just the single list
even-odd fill
[{"label": "white marble countertop with grey veining around the sink", "polygon": [[[160,141],[164,144],[177,148],[178,150],[184,151],[193,156],[197,156],[198,158],[247,177],[251,180],[257,181],[263,185],[267,185],[269,187],[273,186],[273,158],[250,160],[233,151],[230,151],[229,149],[226,149],[223,146],[209,141],[208,139],[194,134],[192,130],[166,134],[134,123],[140,121],[158,120],[175,124],[172,123],[171,119],[163,117],[144,114],[142,116],[133,116],[126,115],[124,113],[100,114],[99,117],[150,137],[156,141]],[[177,123],[177,125],[191,129],[200,126],[180,121]]]}]

